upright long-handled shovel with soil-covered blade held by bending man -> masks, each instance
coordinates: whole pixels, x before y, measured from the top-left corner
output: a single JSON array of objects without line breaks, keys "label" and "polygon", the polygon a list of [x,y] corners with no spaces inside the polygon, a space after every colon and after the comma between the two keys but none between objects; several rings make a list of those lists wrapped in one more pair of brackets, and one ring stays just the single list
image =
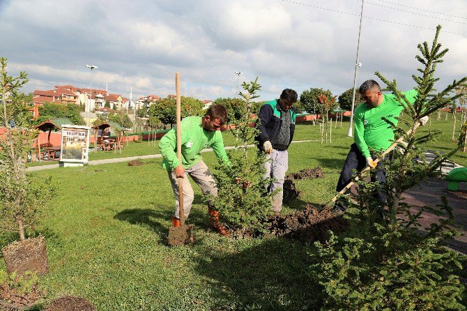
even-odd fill
[{"label": "upright long-handled shovel with soil-covered blade held by bending man", "polygon": [[[180,98],[180,74],[175,74],[176,98],[177,98],[177,155],[178,160],[182,162],[182,132],[181,132],[181,98]],[[180,212],[180,227],[170,227],[169,229],[169,245],[185,245],[192,243],[193,225],[185,224],[185,213],[183,211],[183,177],[178,177],[178,206]]]}]

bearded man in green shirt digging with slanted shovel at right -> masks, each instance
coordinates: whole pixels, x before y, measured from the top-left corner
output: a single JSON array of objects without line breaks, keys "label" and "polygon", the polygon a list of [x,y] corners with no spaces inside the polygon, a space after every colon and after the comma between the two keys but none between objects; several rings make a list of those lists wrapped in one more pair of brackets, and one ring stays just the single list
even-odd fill
[{"label": "bearded man in green shirt digging with slanted shovel at right", "polygon": [[[372,181],[381,184],[386,181],[386,171],[384,161],[381,160],[374,165],[374,155],[383,152],[394,142],[394,130],[390,124],[397,126],[398,117],[404,106],[397,102],[397,98],[392,94],[381,93],[379,84],[374,80],[363,82],[359,89],[363,103],[355,109],[355,143],[351,145],[351,150],[347,155],[346,162],[342,169],[336,190],[339,192],[351,181],[353,169],[361,172],[367,166],[376,168],[372,174]],[[404,92],[409,103],[414,103],[417,91]],[[420,119],[422,125],[426,123],[428,117]],[[381,202],[386,201],[383,191],[374,194]],[[346,206],[338,201],[335,212],[345,211]]]}]

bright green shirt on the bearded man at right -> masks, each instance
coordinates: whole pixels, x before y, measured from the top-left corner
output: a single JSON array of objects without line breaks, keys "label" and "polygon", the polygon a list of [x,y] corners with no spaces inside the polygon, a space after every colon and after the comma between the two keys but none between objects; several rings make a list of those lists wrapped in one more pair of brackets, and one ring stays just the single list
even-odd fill
[{"label": "bright green shirt on the bearded man at right", "polygon": [[[410,103],[415,102],[417,91],[404,92]],[[394,140],[394,130],[383,117],[395,123],[404,106],[397,102],[392,94],[383,95],[383,103],[378,107],[368,107],[365,103],[355,109],[355,144],[362,151],[365,158],[371,156],[369,149],[373,151],[385,151]]]}]

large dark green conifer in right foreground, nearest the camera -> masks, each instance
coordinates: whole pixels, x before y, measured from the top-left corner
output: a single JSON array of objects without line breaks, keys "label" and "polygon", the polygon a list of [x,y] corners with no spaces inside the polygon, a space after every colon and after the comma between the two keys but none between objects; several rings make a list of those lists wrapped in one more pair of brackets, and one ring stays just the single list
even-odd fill
[{"label": "large dark green conifer in right foreground, nearest the camera", "polygon": [[[419,130],[420,120],[454,103],[459,95],[452,96],[452,91],[467,79],[454,80],[441,92],[434,89],[436,66],[447,52],[438,43],[440,29],[431,47],[427,42],[418,45],[421,55],[416,59],[422,67],[413,75],[418,93],[413,104],[397,89],[395,80],[376,73],[404,106],[404,118],[399,118],[397,126],[386,121],[406,144],[398,146],[399,152],[386,166],[384,185],[358,181],[358,195],[349,200],[345,214],[351,223],[349,231],[331,234],[327,243],[315,243],[312,254],[319,264],[312,266],[312,276],[323,286],[323,309],[465,310],[459,271],[466,257],[442,244],[444,238],[457,234],[452,229],[452,208],[445,198],[435,208],[414,208],[403,199],[406,190],[438,174],[441,163],[461,148],[466,135],[464,124],[457,148],[432,162],[415,160],[423,158],[418,146],[440,134]],[[385,202],[374,197],[375,190],[384,191]],[[444,217],[422,228],[425,211]]]}]

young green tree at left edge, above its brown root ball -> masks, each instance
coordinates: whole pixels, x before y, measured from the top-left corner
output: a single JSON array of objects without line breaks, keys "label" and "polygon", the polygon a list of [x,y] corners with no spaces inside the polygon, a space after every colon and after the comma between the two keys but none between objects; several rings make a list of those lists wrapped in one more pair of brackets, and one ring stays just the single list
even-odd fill
[{"label": "young green tree at left edge, above its brown root ball", "polygon": [[[26,228],[38,218],[38,208],[52,196],[50,179],[32,181],[26,176],[26,155],[31,153],[38,132],[30,130],[29,102],[18,91],[28,81],[26,73],[8,75],[7,59],[0,58],[1,125],[0,139],[0,229],[17,232],[26,239]],[[13,123],[10,121],[14,121]]]}]

